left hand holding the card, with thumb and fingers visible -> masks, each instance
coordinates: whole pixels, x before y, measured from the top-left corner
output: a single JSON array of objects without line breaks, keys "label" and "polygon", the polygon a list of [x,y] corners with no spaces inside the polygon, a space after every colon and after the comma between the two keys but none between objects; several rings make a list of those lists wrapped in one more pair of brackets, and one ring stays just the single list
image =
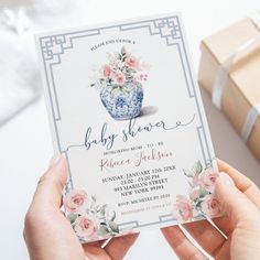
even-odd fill
[{"label": "left hand holding the card, with thumb and fingers visible", "polygon": [[119,260],[138,235],[80,245],[69,221],[59,209],[67,180],[66,160],[56,155],[41,177],[24,221],[24,239],[31,260]]}]

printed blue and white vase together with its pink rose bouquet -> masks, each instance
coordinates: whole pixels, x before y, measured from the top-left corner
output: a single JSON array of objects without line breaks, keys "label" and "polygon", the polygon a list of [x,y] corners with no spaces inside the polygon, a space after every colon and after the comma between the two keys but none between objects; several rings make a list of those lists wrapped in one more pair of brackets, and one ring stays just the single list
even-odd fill
[{"label": "printed blue and white vase together with its pink rose bouquet", "polygon": [[136,118],[141,113],[143,88],[148,75],[140,58],[129,53],[124,46],[115,54],[108,53],[108,63],[99,68],[99,76],[90,86],[100,89],[100,100],[116,120]]}]

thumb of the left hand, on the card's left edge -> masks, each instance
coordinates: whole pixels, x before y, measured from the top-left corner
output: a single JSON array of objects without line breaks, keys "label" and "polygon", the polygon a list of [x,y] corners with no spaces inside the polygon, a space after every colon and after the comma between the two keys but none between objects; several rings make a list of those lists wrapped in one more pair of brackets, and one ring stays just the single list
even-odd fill
[{"label": "thumb of the left hand, on the card's left edge", "polygon": [[66,159],[61,154],[56,154],[51,160],[48,170],[39,181],[31,207],[41,207],[46,210],[59,210],[62,192],[66,181]]}]

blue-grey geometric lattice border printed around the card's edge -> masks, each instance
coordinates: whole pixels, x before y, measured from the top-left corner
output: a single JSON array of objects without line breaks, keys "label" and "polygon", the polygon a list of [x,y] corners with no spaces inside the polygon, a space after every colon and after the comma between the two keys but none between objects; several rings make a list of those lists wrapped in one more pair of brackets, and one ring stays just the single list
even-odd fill
[{"label": "blue-grey geometric lattice border printed around the card's edge", "polygon": [[[198,134],[198,140],[201,143],[204,163],[205,165],[210,163],[212,159],[214,158],[214,154],[210,154],[210,149],[208,145],[208,140],[207,140],[207,136],[205,131],[199,101],[198,101],[197,94],[195,90],[195,83],[193,79],[192,69],[191,69],[189,61],[187,56],[187,51],[184,43],[183,32],[182,32],[182,28],[181,28],[177,15],[158,18],[158,19],[152,19],[152,20],[142,20],[138,22],[124,22],[122,24],[117,24],[117,25],[109,25],[109,26],[102,26],[102,28],[96,28],[96,29],[89,29],[89,30],[80,30],[76,32],[68,32],[68,33],[63,33],[63,34],[55,34],[51,36],[40,37],[41,53],[42,53],[42,58],[44,63],[44,73],[45,73],[45,78],[46,78],[50,104],[51,104],[51,109],[52,109],[52,115],[53,115],[53,122],[54,122],[55,134],[56,134],[59,152],[65,153],[68,161],[68,154],[67,154],[68,149],[65,149],[65,150],[62,149],[59,136],[57,131],[57,122],[62,120],[62,115],[58,107],[58,97],[56,94],[55,82],[54,82],[54,76],[53,76],[53,66],[56,66],[62,63],[62,55],[66,53],[66,50],[72,50],[74,47],[74,43],[76,40],[83,39],[83,37],[91,37],[94,35],[100,35],[104,31],[111,28],[118,29],[119,31],[147,29],[150,35],[161,36],[169,46],[177,47],[182,67],[183,67],[183,74],[186,82],[187,94],[188,94],[188,97],[194,98],[196,102],[198,116],[199,116],[201,124],[197,126],[197,134]],[[73,186],[71,170],[69,170],[69,176],[71,176],[71,185]],[[158,225],[161,223],[169,223],[169,221],[175,221],[175,219],[173,219],[171,215],[164,215],[164,216],[159,216],[159,221],[156,223],[139,225],[139,221],[136,220],[131,223],[120,224],[119,226],[123,227],[128,224],[131,224],[131,225],[134,225],[132,227],[143,227],[143,226]]]}]

